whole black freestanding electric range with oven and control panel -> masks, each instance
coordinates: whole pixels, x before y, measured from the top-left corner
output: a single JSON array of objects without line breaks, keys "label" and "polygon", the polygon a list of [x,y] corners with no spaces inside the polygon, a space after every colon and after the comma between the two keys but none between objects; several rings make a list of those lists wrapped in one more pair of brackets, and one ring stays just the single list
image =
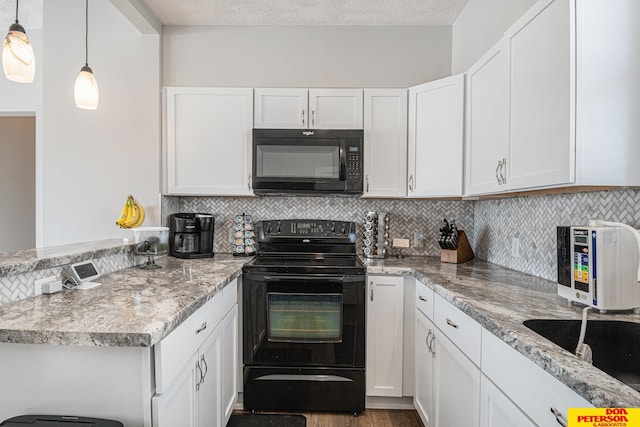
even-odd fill
[{"label": "whole black freestanding electric range with oven and control panel", "polygon": [[242,279],[245,410],[364,410],[365,267],[355,230],[257,223],[258,255]]}]

